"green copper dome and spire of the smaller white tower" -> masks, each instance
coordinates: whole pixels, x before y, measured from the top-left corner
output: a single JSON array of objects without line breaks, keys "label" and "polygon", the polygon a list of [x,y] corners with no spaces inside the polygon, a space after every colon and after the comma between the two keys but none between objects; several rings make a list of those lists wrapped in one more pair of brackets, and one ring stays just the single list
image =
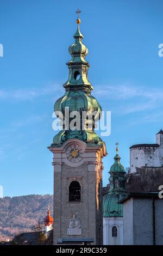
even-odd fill
[{"label": "green copper dome and spire of the smaller white tower", "polygon": [[109,172],[110,190],[103,197],[103,217],[123,217],[123,205],[120,206],[117,202],[127,194],[125,188],[126,172],[120,163],[121,157],[118,155],[118,148],[116,151],[115,162]]}]

